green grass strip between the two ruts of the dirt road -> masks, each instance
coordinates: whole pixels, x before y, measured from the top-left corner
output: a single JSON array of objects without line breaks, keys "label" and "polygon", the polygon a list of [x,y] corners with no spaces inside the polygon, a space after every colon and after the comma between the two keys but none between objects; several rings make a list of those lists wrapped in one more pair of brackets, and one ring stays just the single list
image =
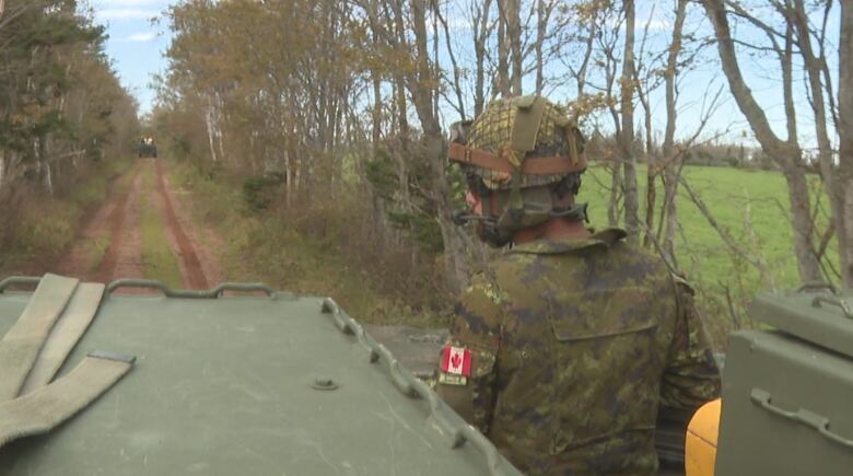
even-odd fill
[{"label": "green grass strip between the two ruts of the dirt road", "polygon": [[[140,191],[140,199],[150,200],[151,197],[154,197],[156,194],[154,190],[154,167],[144,166],[141,173],[142,189]],[[173,289],[184,288],[184,278],[180,275],[177,256],[175,256],[170,246],[163,216],[154,204],[148,201],[140,204],[139,210],[144,277],[148,279],[157,279]]]}]

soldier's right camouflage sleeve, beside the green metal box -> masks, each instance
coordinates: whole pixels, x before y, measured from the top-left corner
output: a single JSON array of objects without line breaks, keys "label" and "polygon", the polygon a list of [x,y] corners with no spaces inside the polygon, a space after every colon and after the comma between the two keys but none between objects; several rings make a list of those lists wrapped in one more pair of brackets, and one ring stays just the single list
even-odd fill
[{"label": "soldier's right camouflage sleeve, beside the green metal box", "polygon": [[673,343],[661,385],[664,407],[696,409],[720,396],[720,369],[692,289],[676,279],[677,315]]}]

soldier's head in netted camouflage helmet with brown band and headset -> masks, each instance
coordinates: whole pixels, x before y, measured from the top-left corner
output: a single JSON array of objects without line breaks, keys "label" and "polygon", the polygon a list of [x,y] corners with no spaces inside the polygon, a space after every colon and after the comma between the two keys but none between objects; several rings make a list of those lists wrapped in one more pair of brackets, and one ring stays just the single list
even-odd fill
[{"label": "soldier's head in netted camouflage helmet with brown band and headset", "polygon": [[454,221],[480,220],[480,236],[492,246],[551,217],[586,218],[585,204],[553,206],[554,194],[577,194],[586,159],[575,121],[544,97],[496,100],[475,120],[454,124],[447,156],[483,204],[483,217],[460,211]]}]

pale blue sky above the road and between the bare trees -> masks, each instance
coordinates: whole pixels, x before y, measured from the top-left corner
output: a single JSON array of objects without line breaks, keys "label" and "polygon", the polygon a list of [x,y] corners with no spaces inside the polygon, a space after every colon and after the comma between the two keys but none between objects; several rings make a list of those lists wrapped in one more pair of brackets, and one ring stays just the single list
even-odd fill
[{"label": "pale blue sky above the road and between the bare trees", "polygon": [[[122,84],[138,98],[140,112],[151,111],[155,98],[155,92],[151,86],[153,76],[163,73],[167,67],[165,50],[168,48],[171,35],[165,22],[155,22],[154,19],[162,16],[162,13],[170,4],[177,3],[176,0],[87,0],[93,10],[95,21],[107,27],[109,36],[106,43],[106,53],[114,62],[114,69],[118,72]],[[648,31],[648,47],[653,49],[661,45],[666,45],[671,35],[671,1],[642,1],[638,2],[636,28],[638,28],[638,49],[640,48],[641,35],[644,30]],[[704,19],[702,11],[694,8],[693,14],[698,15],[693,23],[699,28],[698,33],[710,33],[711,25]],[[837,13],[837,12],[836,12]],[[458,35],[461,44],[469,37],[469,22],[466,20],[465,12],[448,11],[445,13],[448,23]],[[817,20],[817,19],[814,19]],[[838,38],[838,18],[837,14],[829,22],[830,38]],[[739,28],[739,30],[738,30]],[[739,39],[752,38],[756,43],[763,38],[756,32],[749,32],[746,26],[734,25],[734,33]],[[756,36],[752,36],[756,35]],[[657,44],[657,45],[656,45]],[[449,61],[446,54],[442,55],[444,68],[449,68]],[[830,61],[834,62],[834,56],[830,54]],[[768,119],[773,129],[781,138],[785,137],[785,119],[782,97],[780,94],[781,83],[778,68],[778,60],[767,56],[741,56],[741,69],[747,79],[748,85],[752,90],[759,104],[766,109]],[[834,63],[830,65],[836,69]],[[797,79],[802,78],[802,68],[795,68]],[[808,98],[805,91],[798,83],[795,95],[797,97],[797,116],[801,123],[799,135],[803,146],[808,148],[814,146],[814,120],[809,115]],[[526,84],[525,84],[526,85]],[[711,94],[723,88],[722,101],[718,104],[715,115],[705,127],[705,136],[726,130],[725,136],[728,140],[744,142],[747,146],[757,146],[751,137],[751,131],[745,118],[737,108],[736,103],[728,93],[728,84],[716,58],[716,49],[708,48],[704,58],[698,61],[693,72],[687,76],[681,84],[682,96],[679,100],[679,136],[690,136],[699,126],[699,118],[705,101],[706,93]],[[547,95],[557,101],[568,101],[573,92],[568,89],[557,89],[546,91]],[[665,104],[663,97],[663,88],[653,93],[650,97],[653,109],[653,128],[663,130],[665,123]],[[642,120],[640,115],[640,105],[638,104],[636,120]],[[458,120],[452,113],[451,107],[446,108],[444,114],[446,123]],[[607,118],[605,117],[605,120]],[[638,128],[639,131],[639,128]]]}]

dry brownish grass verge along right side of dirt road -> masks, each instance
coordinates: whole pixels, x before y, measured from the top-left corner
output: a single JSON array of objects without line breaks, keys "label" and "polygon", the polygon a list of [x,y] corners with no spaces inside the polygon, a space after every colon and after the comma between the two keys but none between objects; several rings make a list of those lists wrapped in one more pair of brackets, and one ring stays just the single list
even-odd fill
[{"label": "dry brownish grass verge along right side of dirt road", "polygon": [[[191,190],[189,202],[200,224],[212,227],[226,243],[220,263],[230,279],[262,281],[303,295],[329,295],[362,322],[446,327],[451,301],[437,309],[424,305],[436,295],[428,287],[407,300],[405,287],[400,288],[406,277],[394,272],[393,264],[363,256],[365,247],[359,245],[363,239],[352,234],[351,220],[357,218],[350,210],[294,207],[302,212],[278,209],[256,214],[246,210],[231,177],[211,177],[188,165],[173,169],[172,176]],[[304,221],[306,213],[309,222]],[[373,262],[372,266],[364,260]],[[389,281],[399,289],[383,286]]]}]

